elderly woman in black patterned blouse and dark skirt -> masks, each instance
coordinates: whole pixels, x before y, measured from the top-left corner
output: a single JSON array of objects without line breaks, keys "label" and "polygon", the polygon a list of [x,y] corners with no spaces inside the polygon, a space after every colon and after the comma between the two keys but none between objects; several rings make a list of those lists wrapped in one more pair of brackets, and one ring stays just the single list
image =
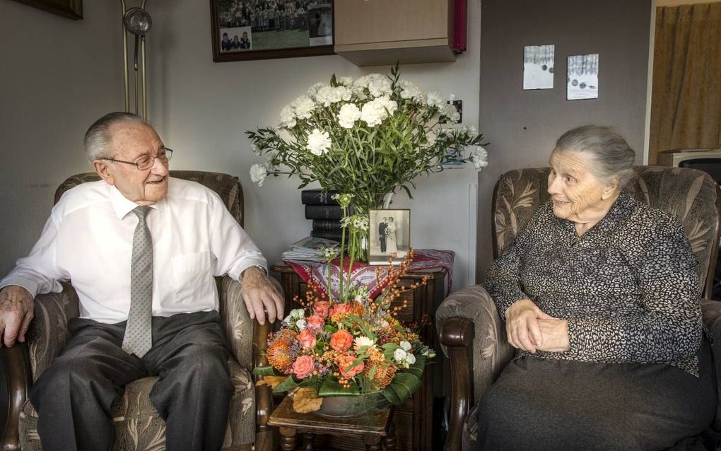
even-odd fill
[{"label": "elderly woman in black patterned blouse and dark skirt", "polygon": [[516,358],[479,409],[485,450],[684,449],[715,411],[696,258],[622,187],[634,152],[583,126],[551,154],[551,200],[485,287]]}]

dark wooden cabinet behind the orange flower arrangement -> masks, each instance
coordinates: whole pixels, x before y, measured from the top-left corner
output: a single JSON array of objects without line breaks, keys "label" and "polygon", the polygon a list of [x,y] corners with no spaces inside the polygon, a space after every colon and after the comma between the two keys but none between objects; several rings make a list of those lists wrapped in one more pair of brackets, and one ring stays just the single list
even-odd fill
[{"label": "dark wooden cabinet behind the orange flower arrangement", "polygon": [[[286,311],[298,307],[293,305],[293,297],[305,295],[308,290],[305,282],[290,266],[273,265],[271,269],[280,273],[280,284],[286,295]],[[398,315],[398,319],[403,322],[419,321],[424,313],[433,320],[435,310],[445,297],[446,271],[407,273],[400,284],[410,286],[420,281],[423,276],[429,277],[428,284],[419,285],[417,289],[409,290],[394,300],[394,306],[402,306],[403,302],[407,301],[407,306],[400,310]],[[440,421],[433,420],[433,400],[443,398],[443,354],[438,343],[438,334],[435,333],[435,325],[427,325],[420,330],[420,339],[423,343],[429,343],[437,355],[426,367],[423,387],[412,399],[395,409],[398,451],[440,450],[443,447]],[[319,450],[355,451],[365,447],[362,439],[332,436],[317,437],[316,445]]]}]

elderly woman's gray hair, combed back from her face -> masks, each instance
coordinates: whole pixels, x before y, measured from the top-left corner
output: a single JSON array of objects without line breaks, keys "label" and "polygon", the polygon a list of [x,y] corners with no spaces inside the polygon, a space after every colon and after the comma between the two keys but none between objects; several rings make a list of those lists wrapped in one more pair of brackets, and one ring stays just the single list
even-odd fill
[{"label": "elderly woman's gray hair, combed back from her face", "polygon": [[619,179],[623,188],[634,178],[636,152],[613,127],[580,126],[563,133],[556,141],[559,151],[588,152],[598,165],[590,168],[601,180]]}]

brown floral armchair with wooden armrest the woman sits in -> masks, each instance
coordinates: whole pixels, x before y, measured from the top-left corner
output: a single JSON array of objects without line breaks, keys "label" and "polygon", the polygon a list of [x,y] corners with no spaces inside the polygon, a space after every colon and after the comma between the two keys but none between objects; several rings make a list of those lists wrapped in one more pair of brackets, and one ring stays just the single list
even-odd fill
[{"label": "brown floral armchair with wooden armrest the woman sits in", "polygon": [[[721,191],[705,172],[659,166],[637,166],[638,178],[627,188],[636,198],[684,224],[699,260],[702,296],[711,297],[719,245]],[[492,197],[493,258],[526,227],[536,209],[549,199],[548,168],[513,170],[501,175]],[[702,299],[704,324],[721,337],[721,302]],[[513,358],[505,325],[493,299],[482,286],[451,294],[436,312],[443,352],[451,366],[451,411],[446,451],[476,450],[479,400]],[[716,373],[721,375],[721,343],[713,346]],[[717,386],[721,387],[721,385]],[[720,390],[721,393],[721,390]],[[721,431],[721,403],[715,424]]]}]

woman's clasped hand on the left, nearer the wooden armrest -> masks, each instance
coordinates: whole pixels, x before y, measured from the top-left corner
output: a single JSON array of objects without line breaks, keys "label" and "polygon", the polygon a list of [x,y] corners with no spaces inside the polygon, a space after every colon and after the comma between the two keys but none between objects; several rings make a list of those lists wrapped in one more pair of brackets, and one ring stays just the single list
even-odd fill
[{"label": "woman's clasped hand on the left, nearer the wooden armrest", "polygon": [[555,320],[536,307],[531,299],[521,299],[505,310],[505,332],[511,346],[531,353],[544,346],[539,320]]}]

